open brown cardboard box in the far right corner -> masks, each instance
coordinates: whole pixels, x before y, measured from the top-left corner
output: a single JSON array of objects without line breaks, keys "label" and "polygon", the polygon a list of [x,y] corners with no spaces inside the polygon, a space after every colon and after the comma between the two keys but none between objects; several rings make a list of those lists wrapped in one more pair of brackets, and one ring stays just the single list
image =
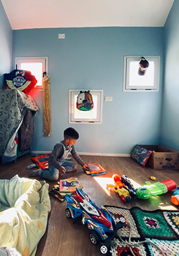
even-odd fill
[{"label": "open brown cardboard box in the far right corner", "polygon": [[179,170],[179,151],[160,145],[141,145],[153,153],[147,161],[152,169]]}]

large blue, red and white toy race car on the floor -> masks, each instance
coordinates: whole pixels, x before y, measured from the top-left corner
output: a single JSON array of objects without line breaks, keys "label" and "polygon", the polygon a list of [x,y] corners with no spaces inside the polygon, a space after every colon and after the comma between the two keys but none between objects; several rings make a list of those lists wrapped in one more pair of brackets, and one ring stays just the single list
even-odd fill
[{"label": "large blue, red and white toy race car on the floor", "polygon": [[117,235],[117,230],[126,226],[123,215],[115,216],[105,207],[99,208],[81,189],[77,188],[71,195],[65,196],[67,207],[66,217],[81,218],[82,224],[87,224],[89,239],[94,245],[103,243],[100,250],[103,254],[110,250],[111,240]]}]

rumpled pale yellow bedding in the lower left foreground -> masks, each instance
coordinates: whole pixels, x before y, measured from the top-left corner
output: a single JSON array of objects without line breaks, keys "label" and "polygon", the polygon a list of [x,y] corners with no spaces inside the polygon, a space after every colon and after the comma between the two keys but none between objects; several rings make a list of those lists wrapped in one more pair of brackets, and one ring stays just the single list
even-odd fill
[{"label": "rumpled pale yellow bedding in the lower left foreground", "polygon": [[51,210],[49,184],[15,175],[0,180],[0,247],[34,256]]}]

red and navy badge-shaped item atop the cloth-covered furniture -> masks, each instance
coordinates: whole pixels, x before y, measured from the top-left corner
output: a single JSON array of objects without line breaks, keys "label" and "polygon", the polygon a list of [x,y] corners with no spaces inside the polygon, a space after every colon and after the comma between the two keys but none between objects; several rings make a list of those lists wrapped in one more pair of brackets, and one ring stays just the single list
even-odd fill
[{"label": "red and navy badge-shaped item atop the cloth-covered furniture", "polygon": [[17,89],[28,94],[36,85],[37,80],[30,71],[14,69],[4,74],[5,83],[9,89]]}]

